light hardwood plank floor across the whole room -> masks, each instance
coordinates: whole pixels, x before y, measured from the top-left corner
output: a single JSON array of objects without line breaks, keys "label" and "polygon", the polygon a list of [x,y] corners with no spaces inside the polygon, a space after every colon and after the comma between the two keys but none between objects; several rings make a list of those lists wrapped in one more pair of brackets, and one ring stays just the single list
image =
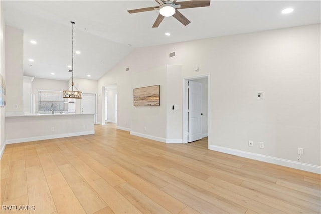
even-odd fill
[{"label": "light hardwood plank floor across the whole room", "polygon": [[[320,175],[95,126],[95,135],[10,144],[3,213],[320,213]],[[10,205],[35,210],[7,211]]]}]

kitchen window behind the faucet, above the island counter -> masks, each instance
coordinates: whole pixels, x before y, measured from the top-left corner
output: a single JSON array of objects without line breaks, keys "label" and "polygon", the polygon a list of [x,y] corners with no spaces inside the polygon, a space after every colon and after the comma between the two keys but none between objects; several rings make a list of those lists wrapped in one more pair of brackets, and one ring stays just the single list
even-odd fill
[{"label": "kitchen window behind the faucet, above the island counter", "polygon": [[52,113],[52,105],[55,112],[65,111],[64,102],[62,91],[38,90],[38,113]]}]

